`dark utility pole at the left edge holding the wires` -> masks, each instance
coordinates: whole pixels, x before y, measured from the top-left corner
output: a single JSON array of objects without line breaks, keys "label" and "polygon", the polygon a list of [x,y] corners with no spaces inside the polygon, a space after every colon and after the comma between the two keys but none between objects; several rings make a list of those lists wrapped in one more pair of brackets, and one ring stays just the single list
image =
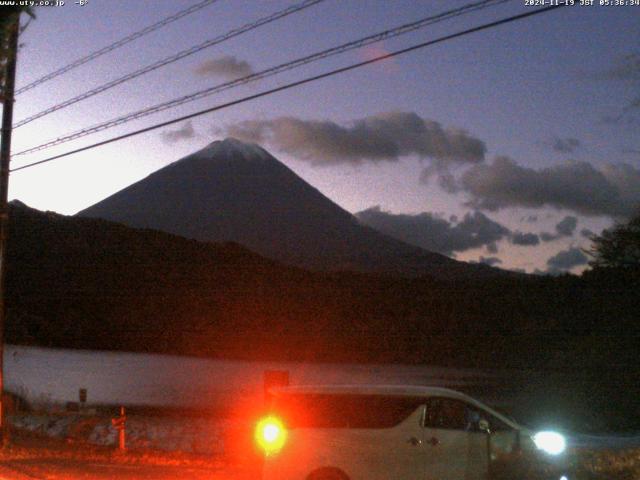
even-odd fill
[{"label": "dark utility pole at the left edge holding the wires", "polygon": [[0,434],[2,445],[7,440],[7,426],[4,415],[4,324],[5,324],[5,275],[6,240],[9,226],[9,162],[11,160],[11,129],[13,127],[13,100],[16,83],[16,60],[18,56],[18,33],[20,13],[9,27],[7,64],[4,77],[2,132],[0,133]]}]

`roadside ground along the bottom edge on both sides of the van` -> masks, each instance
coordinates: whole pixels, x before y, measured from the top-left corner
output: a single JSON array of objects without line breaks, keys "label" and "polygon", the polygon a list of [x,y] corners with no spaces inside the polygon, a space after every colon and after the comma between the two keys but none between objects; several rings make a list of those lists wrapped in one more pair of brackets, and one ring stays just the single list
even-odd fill
[{"label": "roadside ground along the bottom edge on both sides of the van", "polygon": [[[571,480],[637,480],[640,478],[640,449],[573,450]],[[226,458],[112,448],[80,442],[44,438],[13,432],[11,443],[0,450],[0,480],[249,480],[260,478],[255,457]],[[500,480],[542,480],[532,473],[526,478]],[[556,480],[556,479],[554,479]]]}]

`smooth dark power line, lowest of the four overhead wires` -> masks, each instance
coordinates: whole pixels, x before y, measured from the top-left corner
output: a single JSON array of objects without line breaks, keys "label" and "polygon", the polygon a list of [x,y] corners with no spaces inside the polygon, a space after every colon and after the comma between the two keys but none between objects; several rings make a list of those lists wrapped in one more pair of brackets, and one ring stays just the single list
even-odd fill
[{"label": "smooth dark power line, lowest of the four overhead wires", "polygon": [[511,22],[515,22],[515,21],[518,21],[518,20],[523,20],[523,19],[528,18],[528,17],[533,17],[534,15],[540,15],[542,13],[546,13],[546,12],[549,12],[549,11],[552,11],[552,10],[556,10],[556,9],[564,7],[564,6],[565,6],[564,4],[560,4],[560,5],[544,7],[544,8],[540,8],[540,9],[537,9],[537,10],[532,10],[530,12],[521,13],[519,15],[513,15],[511,17],[506,17],[506,18],[503,18],[503,19],[500,19],[500,20],[496,20],[494,22],[485,23],[483,25],[480,25],[480,26],[477,26],[477,27],[473,27],[473,28],[469,28],[469,29],[466,29],[466,30],[462,30],[462,31],[457,32],[457,33],[452,33],[450,35],[445,35],[443,37],[436,38],[435,40],[429,40],[427,42],[419,43],[419,44],[413,45],[411,47],[403,48],[401,50],[396,50],[394,52],[390,52],[390,53],[387,53],[387,54],[384,54],[384,55],[379,55],[379,56],[377,56],[375,58],[372,58],[372,59],[369,59],[369,60],[365,60],[363,62],[353,63],[353,64],[348,65],[346,67],[336,68],[335,70],[330,70],[328,72],[321,73],[321,74],[318,74],[318,75],[314,75],[314,76],[311,76],[311,77],[307,77],[307,78],[304,78],[302,80],[297,80],[295,82],[287,83],[287,84],[281,85],[279,87],[275,87],[275,88],[272,88],[272,89],[269,89],[269,90],[264,90],[262,92],[255,93],[253,95],[249,95],[249,96],[246,96],[246,97],[242,97],[242,98],[233,100],[231,102],[227,102],[227,103],[223,103],[223,104],[220,104],[220,105],[216,105],[214,107],[207,108],[205,110],[200,110],[199,112],[191,113],[189,115],[184,115],[184,116],[179,117],[179,118],[174,118],[173,120],[169,120],[169,121],[166,121],[166,122],[157,123],[157,124],[152,125],[150,127],[141,128],[141,129],[135,130],[133,132],[125,133],[124,135],[119,135],[117,137],[112,137],[110,139],[103,140],[101,142],[97,142],[97,143],[94,143],[92,145],[87,145],[85,147],[77,148],[77,149],[71,150],[69,152],[61,153],[59,155],[54,155],[52,157],[45,158],[43,160],[39,160],[37,162],[29,163],[27,165],[23,165],[21,167],[14,168],[14,169],[11,170],[11,172],[17,172],[19,170],[24,170],[26,168],[34,167],[36,165],[41,165],[43,163],[51,162],[51,161],[57,160],[59,158],[68,157],[69,155],[73,155],[75,153],[80,153],[80,152],[84,152],[86,150],[90,150],[90,149],[93,149],[93,148],[101,147],[101,146],[107,145],[109,143],[117,142],[119,140],[124,140],[125,138],[133,137],[133,136],[136,136],[136,135],[140,135],[142,133],[150,132],[152,130],[157,130],[158,128],[163,128],[163,127],[166,127],[166,126],[169,126],[169,125],[173,125],[174,123],[183,122],[185,120],[189,120],[191,118],[199,117],[199,116],[205,115],[207,113],[215,112],[215,111],[218,111],[218,110],[223,110],[225,108],[229,108],[229,107],[232,107],[234,105],[239,105],[241,103],[246,103],[246,102],[249,102],[251,100],[255,100],[255,99],[261,98],[261,97],[266,97],[268,95],[272,95],[272,94],[277,93],[277,92],[282,92],[284,90],[289,90],[290,88],[298,87],[300,85],[305,85],[307,83],[315,82],[317,80],[321,80],[321,79],[324,79],[324,78],[332,77],[334,75],[338,75],[338,74],[345,73],[345,72],[348,72],[348,71],[351,71],[351,70],[355,70],[357,68],[364,67],[366,65],[371,65],[372,63],[380,62],[382,60],[387,60],[389,58],[397,57],[397,56],[403,55],[405,53],[409,53],[409,52],[413,52],[415,50],[426,48],[426,47],[429,47],[431,45],[435,45],[437,43],[442,43],[442,42],[446,42],[448,40],[453,40],[454,38],[459,38],[459,37],[462,37],[462,36],[465,36],[465,35],[469,35],[471,33],[480,32],[482,30],[488,30],[490,28],[494,28],[494,27],[497,27],[497,26],[500,26],[500,25],[504,25],[506,23],[511,23]]}]

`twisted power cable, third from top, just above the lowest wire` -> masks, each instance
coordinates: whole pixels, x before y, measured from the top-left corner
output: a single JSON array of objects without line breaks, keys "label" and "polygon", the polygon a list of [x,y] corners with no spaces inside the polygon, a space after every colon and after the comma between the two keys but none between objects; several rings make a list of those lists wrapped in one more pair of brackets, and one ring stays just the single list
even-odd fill
[{"label": "twisted power cable, third from top, just above the lowest wire", "polygon": [[118,125],[122,125],[124,123],[128,123],[130,121],[133,120],[137,120],[143,117],[146,117],[148,115],[154,114],[154,113],[158,113],[160,111],[163,110],[167,110],[169,108],[173,108],[173,107],[177,107],[179,105],[188,103],[188,102],[192,102],[195,100],[199,100],[201,98],[213,95],[215,93],[219,93],[225,90],[229,90],[231,88],[235,88],[237,86],[240,85],[245,85],[247,83],[251,83],[251,82],[255,82],[258,80],[261,80],[263,78],[267,78],[273,75],[276,75],[278,73],[282,73],[284,71],[288,71],[288,70],[293,70],[294,68],[300,67],[302,65],[306,65],[318,60],[322,60],[334,55],[338,55],[356,48],[361,48],[364,47],[366,45],[370,45],[372,43],[376,43],[382,40],[386,40],[389,38],[393,38],[393,37],[397,37],[400,35],[403,35],[405,33],[409,33],[412,32],[414,30],[420,29],[420,28],[424,28],[428,25],[433,25],[435,23],[444,21],[444,20],[448,20],[454,17],[458,17],[473,11],[477,11],[477,10],[481,10],[493,5],[498,5],[501,3],[505,3],[505,2],[509,2],[511,0],[482,0],[479,2],[475,2],[475,3],[471,3],[471,4],[467,4],[463,7],[459,7],[453,10],[447,10],[443,13],[437,14],[437,15],[433,15],[433,16],[429,16],[426,18],[422,18],[420,20],[417,20],[415,22],[411,22],[411,23],[407,23],[404,25],[401,25],[399,27],[395,27],[389,30],[385,30],[383,32],[380,33],[376,33],[373,35],[369,35],[367,37],[364,38],[360,38],[358,40],[354,40],[351,42],[347,42],[344,43],[342,45],[339,45],[337,47],[332,47],[326,50],[321,50],[320,52],[316,52],[313,53],[311,55],[307,55],[301,58],[298,58],[296,60],[292,60],[280,65],[276,65],[274,67],[268,68],[266,70],[262,70],[260,72],[257,73],[252,73],[250,75],[247,75],[245,77],[242,78],[238,78],[236,80],[232,80],[232,81],[228,81],[222,84],[218,84],[215,85],[213,87],[209,87],[206,88],[204,90],[200,90],[198,92],[189,94],[189,95],[185,95],[182,97],[179,97],[177,99],[173,99],[170,100],[168,102],[163,102],[151,107],[147,107],[144,108],[142,110],[138,110],[132,113],[128,113],[126,115],[120,116],[120,117],[116,117],[113,118],[111,120],[107,120],[106,122],[102,122],[99,123],[97,125],[93,125],[91,127],[86,127],[80,130],[77,130],[75,132],[71,132],[69,134],[66,134],[62,137],[58,137],[56,139],[47,141],[43,144],[40,145],[36,145],[34,147],[30,147],[26,150],[22,150],[20,152],[14,153],[13,156],[18,156],[18,155],[25,155],[28,153],[33,153],[33,152],[37,152],[40,150],[44,150],[56,145],[60,145],[62,143],[67,143],[70,142],[72,140],[76,140],[78,138],[81,137],[85,137],[87,135],[93,134],[93,133],[97,133],[97,132],[101,132],[103,130],[109,129],[109,128],[113,128],[116,127]]}]

